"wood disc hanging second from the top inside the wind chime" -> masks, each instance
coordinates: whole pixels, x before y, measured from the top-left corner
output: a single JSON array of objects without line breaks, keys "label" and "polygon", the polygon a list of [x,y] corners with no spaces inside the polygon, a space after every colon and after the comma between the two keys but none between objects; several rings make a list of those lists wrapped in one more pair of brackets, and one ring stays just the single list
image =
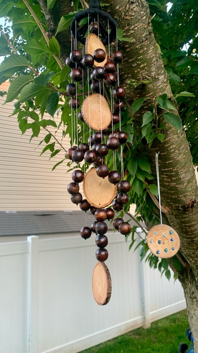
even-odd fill
[{"label": "wood disc hanging second from the top inside the wind chime", "polygon": [[91,94],[85,98],[82,103],[81,113],[88,126],[90,118],[90,127],[93,130],[101,130],[101,122],[102,130],[106,129],[111,123],[111,110],[109,104],[106,99],[98,93]]}]

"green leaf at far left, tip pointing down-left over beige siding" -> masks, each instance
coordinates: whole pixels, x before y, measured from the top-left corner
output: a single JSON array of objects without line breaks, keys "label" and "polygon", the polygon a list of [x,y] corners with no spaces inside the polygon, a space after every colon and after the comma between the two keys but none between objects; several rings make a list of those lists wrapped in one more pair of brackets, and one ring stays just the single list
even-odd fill
[{"label": "green leaf at far left, tip pointing down-left over beige siding", "polygon": [[[18,97],[20,91],[23,87],[33,81],[33,78],[30,75],[22,75],[16,77],[10,84],[7,92],[7,97],[5,103],[12,102],[14,98]],[[5,104],[4,103],[4,104]]]}]

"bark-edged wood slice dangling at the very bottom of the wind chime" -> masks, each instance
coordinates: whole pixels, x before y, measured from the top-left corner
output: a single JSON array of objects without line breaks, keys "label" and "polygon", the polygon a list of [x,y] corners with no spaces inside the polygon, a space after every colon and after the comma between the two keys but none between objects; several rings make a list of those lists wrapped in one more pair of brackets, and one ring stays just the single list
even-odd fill
[{"label": "bark-edged wood slice dangling at the very bottom of the wind chime", "polygon": [[111,276],[104,262],[98,262],[93,270],[92,290],[98,305],[106,305],[111,298]]}]

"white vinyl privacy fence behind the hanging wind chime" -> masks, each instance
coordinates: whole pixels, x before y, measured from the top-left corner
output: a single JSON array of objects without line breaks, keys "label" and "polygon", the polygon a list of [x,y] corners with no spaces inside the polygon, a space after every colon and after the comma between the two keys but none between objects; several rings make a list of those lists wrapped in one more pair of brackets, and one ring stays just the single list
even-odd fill
[{"label": "white vinyl privacy fence behind the hanging wind chime", "polygon": [[0,244],[0,353],[75,353],[185,309],[179,281],[149,269],[109,235],[109,304],[92,295],[95,237]]}]

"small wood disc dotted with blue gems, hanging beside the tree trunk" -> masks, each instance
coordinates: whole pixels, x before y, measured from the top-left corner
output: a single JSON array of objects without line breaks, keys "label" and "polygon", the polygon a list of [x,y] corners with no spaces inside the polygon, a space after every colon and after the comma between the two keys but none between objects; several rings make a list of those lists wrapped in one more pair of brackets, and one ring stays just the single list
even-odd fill
[{"label": "small wood disc dotted with blue gems, hanging beside the tree trunk", "polygon": [[169,258],[177,254],[180,239],[172,227],[165,224],[154,226],[147,234],[150,251],[157,257]]}]

